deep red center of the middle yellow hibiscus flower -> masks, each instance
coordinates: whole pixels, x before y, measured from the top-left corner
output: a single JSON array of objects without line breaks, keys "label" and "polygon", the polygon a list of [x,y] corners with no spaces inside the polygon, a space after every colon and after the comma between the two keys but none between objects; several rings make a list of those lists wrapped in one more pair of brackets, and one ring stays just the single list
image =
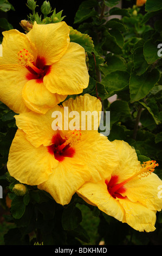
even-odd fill
[{"label": "deep red center of the middle yellow hibiscus flower", "polygon": [[52,144],[47,148],[48,152],[54,155],[59,162],[62,162],[64,157],[73,157],[75,154],[75,149],[69,143],[66,143],[66,139],[62,138],[60,133],[53,136]]}]

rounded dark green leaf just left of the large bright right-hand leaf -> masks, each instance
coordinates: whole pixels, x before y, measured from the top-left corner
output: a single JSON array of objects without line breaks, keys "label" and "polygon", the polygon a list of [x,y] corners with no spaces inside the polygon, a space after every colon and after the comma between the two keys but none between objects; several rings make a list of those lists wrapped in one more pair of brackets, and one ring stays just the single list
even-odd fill
[{"label": "rounded dark green leaf just left of the large bright right-hand leaf", "polygon": [[129,74],[125,71],[112,72],[102,79],[102,84],[105,86],[110,97],[128,86]]}]

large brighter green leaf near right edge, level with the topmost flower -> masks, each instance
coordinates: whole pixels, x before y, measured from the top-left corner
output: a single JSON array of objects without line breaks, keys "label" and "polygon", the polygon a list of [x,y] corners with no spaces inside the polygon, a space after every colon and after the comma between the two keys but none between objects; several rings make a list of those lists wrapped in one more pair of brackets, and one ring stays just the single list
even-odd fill
[{"label": "large brighter green leaf near right edge, level with the topmost flower", "polygon": [[153,69],[150,72],[146,71],[141,76],[132,71],[129,82],[131,103],[143,99],[154,87],[155,83],[159,81],[159,78],[160,74],[157,69]]}]

